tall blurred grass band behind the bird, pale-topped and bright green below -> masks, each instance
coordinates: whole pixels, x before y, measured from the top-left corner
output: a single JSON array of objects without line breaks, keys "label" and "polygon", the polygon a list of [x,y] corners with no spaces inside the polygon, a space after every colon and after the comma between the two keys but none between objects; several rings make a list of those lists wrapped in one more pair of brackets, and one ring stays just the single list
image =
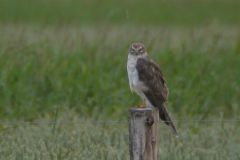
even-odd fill
[{"label": "tall blurred grass band behind the bird, pale-topped and bright green below", "polygon": [[163,70],[167,106],[178,119],[233,117],[240,89],[236,31],[7,24],[0,40],[0,115],[34,120],[59,106],[82,116],[126,118],[126,108],[141,103],[129,90],[128,48],[142,42]]}]

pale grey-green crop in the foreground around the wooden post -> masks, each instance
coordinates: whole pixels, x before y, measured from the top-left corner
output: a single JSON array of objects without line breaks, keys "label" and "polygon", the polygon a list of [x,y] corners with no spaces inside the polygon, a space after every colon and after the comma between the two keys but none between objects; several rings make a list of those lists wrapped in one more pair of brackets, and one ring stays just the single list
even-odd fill
[{"label": "pale grey-green crop in the foreground around the wooden post", "polygon": [[[74,110],[60,114],[57,121],[84,121]],[[45,116],[41,121],[53,121]],[[89,120],[91,121],[91,120]],[[175,123],[179,137],[160,123],[159,159],[239,159],[239,124]],[[61,124],[18,125],[0,128],[0,159],[100,159],[126,160],[128,125]]]}]

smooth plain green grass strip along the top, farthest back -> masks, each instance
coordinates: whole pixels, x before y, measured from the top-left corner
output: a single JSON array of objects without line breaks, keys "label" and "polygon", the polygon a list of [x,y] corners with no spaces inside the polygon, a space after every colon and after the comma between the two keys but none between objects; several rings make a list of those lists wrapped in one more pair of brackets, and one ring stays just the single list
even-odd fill
[{"label": "smooth plain green grass strip along the top, farthest back", "polygon": [[133,23],[138,25],[240,24],[237,0],[8,0],[0,21],[38,23]]}]

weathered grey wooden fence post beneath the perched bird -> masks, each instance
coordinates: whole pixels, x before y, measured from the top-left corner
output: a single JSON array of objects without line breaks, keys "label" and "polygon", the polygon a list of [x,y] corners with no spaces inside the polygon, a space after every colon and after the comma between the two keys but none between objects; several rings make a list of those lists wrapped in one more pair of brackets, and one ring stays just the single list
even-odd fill
[{"label": "weathered grey wooden fence post beneath the perched bird", "polygon": [[130,160],[158,160],[158,109],[130,108],[128,120]]}]

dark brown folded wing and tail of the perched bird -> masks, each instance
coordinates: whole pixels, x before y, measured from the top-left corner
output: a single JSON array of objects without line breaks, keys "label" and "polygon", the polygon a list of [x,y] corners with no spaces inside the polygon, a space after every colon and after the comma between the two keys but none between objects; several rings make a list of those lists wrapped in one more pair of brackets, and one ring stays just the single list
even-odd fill
[{"label": "dark brown folded wing and tail of the perched bird", "polygon": [[153,60],[146,56],[138,58],[136,69],[139,80],[143,81],[148,88],[143,93],[154,107],[159,108],[159,117],[169,125],[172,133],[177,136],[177,131],[164,105],[164,102],[167,102],[168,89],[160,68]]}]

